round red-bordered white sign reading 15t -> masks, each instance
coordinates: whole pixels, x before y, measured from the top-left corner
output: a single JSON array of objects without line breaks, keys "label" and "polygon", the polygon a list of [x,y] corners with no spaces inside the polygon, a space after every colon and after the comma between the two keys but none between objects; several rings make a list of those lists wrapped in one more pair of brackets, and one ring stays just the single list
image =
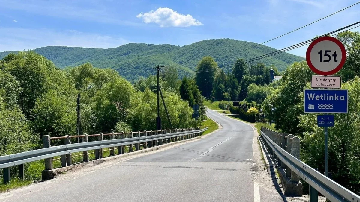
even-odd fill
[{"label": "round red-bordered white sign reading 15t", "polygon": [[346,50],[337,38],[324,36],[315,39],[306,51],[306,62],[319,75],[337,73],[345,64]]}]

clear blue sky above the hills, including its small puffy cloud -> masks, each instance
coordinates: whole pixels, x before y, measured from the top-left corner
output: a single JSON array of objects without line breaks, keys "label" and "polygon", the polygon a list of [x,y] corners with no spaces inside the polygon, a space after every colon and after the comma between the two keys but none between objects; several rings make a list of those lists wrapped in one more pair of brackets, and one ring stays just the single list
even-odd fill
[{"label": "clear blue sky above the hills, including its small puffy cloud", "polygon": [[[232,38],[262,43],[357,0],[0,0],[0,51],[43,46],[188,45]],[[360,20],[360,4],[265,43],[282,49]],[[359,30],[359,29],[354,29]],[[306,47],[290,53],[305,56]]]}]

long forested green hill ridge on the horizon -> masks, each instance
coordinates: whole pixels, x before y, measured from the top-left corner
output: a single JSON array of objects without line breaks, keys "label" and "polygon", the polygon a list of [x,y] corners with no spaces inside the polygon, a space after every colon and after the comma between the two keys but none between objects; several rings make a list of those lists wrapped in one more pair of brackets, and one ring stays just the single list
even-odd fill
[{"label": "long forested green hill ridge on the horizon", "polygon": [[[150,74],[155,74],[156,72],[152,67],[157,64],[171,65],[180,70],[188,71],[195,70],[199,60],[207,55],[215,58],[219,66],[223,66],[235,63],[237,58],[246,60],[276,51],[271,47],[259,45],[239,52],[255,45],[257,43],[214,39],[199,41],[183,47],[168,44],[129,43],[110,49],[48,46],[34,51],[52,60],[60,68],[90,62],[99,68],[116,69],[122,76],[134,80],[140,76],[147,77]],[[235,52],[239,53],[234,54]],[[0,59],[9,53],[9,51],[0,52]],[[294,61],[302,60],[304,58],[284,52],[259,61],[266,65],[275,65],[282,71]]]}]

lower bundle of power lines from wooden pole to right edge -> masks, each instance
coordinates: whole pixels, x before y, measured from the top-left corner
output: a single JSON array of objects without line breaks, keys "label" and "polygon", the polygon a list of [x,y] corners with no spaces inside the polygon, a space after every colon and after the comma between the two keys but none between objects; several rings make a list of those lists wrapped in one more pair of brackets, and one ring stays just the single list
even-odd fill
[{"label": "lower bundle of power lines from wooden pole to right edge", "polygon": [[[335,30],[335,31],[326,33],[326,34],[321,35],[321,36],[319,36],[319,37],[332,35],[333,33],[336,33],[336,32],[341,31],[341,30],[343,30],[343,29],[352,27],[352,26],[354,26],[354,25],[356,25],[356,24],[359,24],[359,23],[360,23],[360,21],[359,21],[359,22],[356,22],[356,23],[353,23],[353,24],[350,24],[350,25],[348,25],[348,26],[339,28],[339,29],[337,29],[337,30]],[[354,28],[357,28],[357,27],[360,27],[360,26],[356,26],[356,27],[347,29],[347,30],[345,30],[345,31],[349,31],[349,30],[354,29]],[[343,31],[343,32],[345,32],[345,31]],[[342,33],[342,32],[339,32],[339,33]],[[336,34],[334,34],[334,35],[337,35],[337,34],[339,34],[339,33],[336,33]],[[332,36],[334,36],[334,35],[332,35]],[[319,37],[316,37],[316,38],[319,38]],[[295,45],[292,45],[292,46],[286,47],[286,48],[284,48],[284,49],[277,50],[277,51],[274,51],[274,52],[271,52],[271,53],[268,53],[268,54],[265,54],[265,55],[262,55],[262,56],[258,56],[258,57],[256,57],[256,58],[252,58],[252,59],[245,60],[244,63],[250,63],[250,62],[252,62],[252,61],[264,59],[264,58],[267,58],[267,57],[270,57],[270,56],[274,56],[274,55],[277,55],[277,54],[280,54],[280,53],[283,53],[283,52],[287,52],[287,51],[290,51],[290,50],[293,50],[293,49],[297,49],[297,48],[299,48],[299,47],[302,47],[302,46],[305,46],[305,45],[310,44],[313,40],[315,40],[315,38],[306,40],[306,41],[301,42],[301,43],[297,43],[297,44],[295,44]],[[235,65],[235,64],[236,64],[236,63],[234,63],[234,64],[229,64],[229,65],[224,65],[224,66],[221,66],[221,67],[218,67],[218,68],[215,68],[215,69],[208,69],[208,70],[201,70],[201,71],[177,72],[177,73],[205,73],[205,72],[212,72],[212,71],[216,71],[216,70],[219,70],[219,69],[224,69],[224,68],[229,67],[229,66],[233,66],[233,65]],[[168,71],[164,71],[164,70],[161,70],[161,71],[163,71],[163,72],[168,72]],[[176,72],[172,72],[172,73],[176,73]]]}]

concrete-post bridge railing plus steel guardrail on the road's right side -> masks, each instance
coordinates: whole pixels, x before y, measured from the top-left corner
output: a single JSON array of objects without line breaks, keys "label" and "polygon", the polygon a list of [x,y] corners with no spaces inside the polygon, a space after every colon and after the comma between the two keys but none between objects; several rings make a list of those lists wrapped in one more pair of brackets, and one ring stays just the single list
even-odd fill
[{"label": "concrete-post bridge railing plus steel guardrail on the road's right side", "polygon": [[[285,169],[284,180],[298,183],[299,178],[310,185],[310,202],[318,201],[318,192],[330,201],[360,202],[360,196],[334,182],[316,169],[300,161],[300,138],[261,127],[261,137],[279,168]],[[295,189],[296,187],[289,187]],[[284,187],[285,189],[285,187]],[[285,190],[284,190],[285,192]],[[285,194],[285,193],[284,193]]]}]

